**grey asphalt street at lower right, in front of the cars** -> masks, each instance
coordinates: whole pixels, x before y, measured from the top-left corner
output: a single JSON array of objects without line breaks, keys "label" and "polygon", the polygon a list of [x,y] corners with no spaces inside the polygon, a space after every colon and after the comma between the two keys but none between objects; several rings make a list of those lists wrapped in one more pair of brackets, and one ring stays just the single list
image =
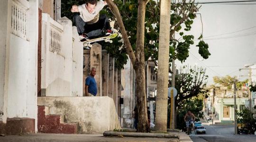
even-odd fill
[{"label": "grey asphalt street at lower right, in front of the cars", "polygon": [[256,142],[256,135],[234,135],[234,125],[208,125],[206,134],[191,135],[193,142]]}]

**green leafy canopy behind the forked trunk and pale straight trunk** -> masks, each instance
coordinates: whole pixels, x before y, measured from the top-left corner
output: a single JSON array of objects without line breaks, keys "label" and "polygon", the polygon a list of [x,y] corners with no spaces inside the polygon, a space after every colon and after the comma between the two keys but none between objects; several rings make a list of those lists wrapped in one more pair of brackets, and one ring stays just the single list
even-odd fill
[{"label": "green leafy canopy behind the forked trunk and pale straight trunk", "polygon": [[[208,50],[209,46],[203,41],[203,36],[194,38],[194,35],[186,35],[187,31],[190,31],[193,24],[193,19],[197,17],[197,12],[200,9],[198,4],[190,0],[185,2],[182,0],[180,3],[171,4],[171,21],[170,21],[170,37],[178,32],[181,37],[179,39],[170,38],[170,61],[172,59],[178,59],[184,62],[189,56],[189,49],[194,40],[199,40],[196,45],[199,48],[199,53],[204,59],[210,56]],[[84,0],[62,0],[62,17],[73,19],[74,13],[70,12],[73,4],[81,5]],[[136,49],[137,40],[137,12],[138,1],[137,0],[114,0],[117,5],[124,27],[126,28],[129,41],[133,51]],[[111,13],[111,10],[106,6],[101,10],[101,14],[107,14],[111,21],[116,21],[116,18]],[[154,61],[158,60],[158,41],[159,41],[159,27],[160,27],[160,3],[155,0],[148,0],[146,4],[145,13],[145,37],[144,37],[144,55],[145,61],[151,58]],[[114,24],[114,28],[119,30],[117,22]],[[102,42],[103,49],[107,49],[111,52],[111,55],[116,58],[118,67],[122,68],[126,64],[128,58],[125,54],[124,45],[118,43],[120,39],[114,41],[112,44]],[[113,50],[114,49],[114,50]],[[170,64],[171,66],[171,64]]]}]

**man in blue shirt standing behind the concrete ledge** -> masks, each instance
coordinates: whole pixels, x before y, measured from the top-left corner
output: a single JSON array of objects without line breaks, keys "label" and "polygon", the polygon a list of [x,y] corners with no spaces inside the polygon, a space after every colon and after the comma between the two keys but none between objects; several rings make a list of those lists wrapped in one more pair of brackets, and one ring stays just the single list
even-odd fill
[{"label": "man in blue shirt standing behind the concrete ledge", "polygon": [[94,79],[96,75],[96,68],[92,67],[90,75],[85,80],[85,96],[96,96],[97,95],[97,83]]}]

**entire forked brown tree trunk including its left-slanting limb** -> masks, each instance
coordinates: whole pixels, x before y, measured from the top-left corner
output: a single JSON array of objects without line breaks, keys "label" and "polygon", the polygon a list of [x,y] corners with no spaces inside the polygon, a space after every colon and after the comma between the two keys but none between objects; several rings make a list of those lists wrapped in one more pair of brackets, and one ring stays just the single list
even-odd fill
[{"label": "entire forked brown tree trunk including its left-slanting limb", "polygon": [[138,0],[138,17],[137,17],[137,41],[136,51],[132,50],[131,44],[128,39],[119,9],[111,0],[106,0],[110,9],[113,11],[114,16],[117,18],[126,52],[131,59],[134,70],[136,71],[136,93],[137,93],[137,109],[138,109],[138,128],[137,132],[149,132],[150,127],[147,121],[146,111],[146,90],[145,90],[145,56],[144,56],[144,33],[145,33],[145,12],[147,0]]}]

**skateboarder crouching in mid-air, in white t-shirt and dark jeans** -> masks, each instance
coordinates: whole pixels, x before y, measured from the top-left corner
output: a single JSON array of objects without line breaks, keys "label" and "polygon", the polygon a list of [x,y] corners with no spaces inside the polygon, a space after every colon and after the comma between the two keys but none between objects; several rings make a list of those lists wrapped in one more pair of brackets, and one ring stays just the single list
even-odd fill
[{"label": "skateboarder crouching in mid-air, in white t-shirt and dark jeans", "polygon": [[85,0],[85,4],[72,6],[71,12],[80,13],[80,15],[74,15],[73,21],[81,42],[95,38],[103,31],[106,36],[112,34],[109,18],[105,14],[100,15],[100,11],[105,5],[107,2],[103,0]]}]

